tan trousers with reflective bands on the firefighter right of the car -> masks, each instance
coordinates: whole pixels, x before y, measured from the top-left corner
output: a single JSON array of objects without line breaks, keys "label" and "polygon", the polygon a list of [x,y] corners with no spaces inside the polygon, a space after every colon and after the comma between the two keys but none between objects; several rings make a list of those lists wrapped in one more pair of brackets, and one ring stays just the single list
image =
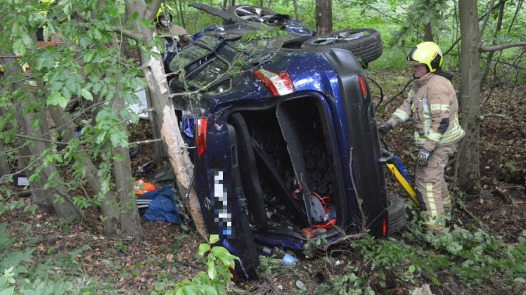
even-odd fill
[{"label": "tan trousers with reflective bands on the firefighter right of the car", "polygon": [[451,211],[444,169],[457,147],[458,142],[438,145],[428,159],[428,166],[416,167],[416,195],[421,209],[428,214],[426,223],[432,230],[442,231],[445,225],[444,212]]}]

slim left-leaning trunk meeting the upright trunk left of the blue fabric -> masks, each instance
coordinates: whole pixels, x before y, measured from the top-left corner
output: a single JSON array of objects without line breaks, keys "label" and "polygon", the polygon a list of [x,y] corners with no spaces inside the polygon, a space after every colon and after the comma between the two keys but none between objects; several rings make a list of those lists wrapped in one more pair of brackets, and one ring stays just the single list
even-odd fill
[{"label": "slim left-leaning trunk meeting the upright trunk left of the blue fabric", "polygon": [[[67,112],[63,112],[60,107],[49,107],[49,114],[51,114],[56,126],[63,126],[67,122],[73,121],[71,115]],[[61,134],[68,142],[77,137],[72,125],[65,126]],[[102,185],[97,177],[98,169],[89,159],[89,155],[85,152],[79,152],[79,160],[84,164],[84,175],[89,187],[96,195],[101,194]],[[108,192],[106,195],[101,196],[101,213],[103,216],[102,224],[105,235],[121,235],[117,212],[118,203],[117,198],[115,197],[115,192]]]}]

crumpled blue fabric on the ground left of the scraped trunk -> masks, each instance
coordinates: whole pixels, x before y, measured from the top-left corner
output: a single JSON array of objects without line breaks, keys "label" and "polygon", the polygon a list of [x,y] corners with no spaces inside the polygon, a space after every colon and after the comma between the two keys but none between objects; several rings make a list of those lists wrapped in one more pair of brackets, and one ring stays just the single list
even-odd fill
[{"label": "crumpled blue fabric on the ground left of the scraped trunk", "polygon": [[179,221],[179,208],[174,203],[174,190],[167,185],[151,192],[146,192],[139,199],[151,199],[150,205],[144,218],[150,221],[166,221],[174,224],[181,224]]}]

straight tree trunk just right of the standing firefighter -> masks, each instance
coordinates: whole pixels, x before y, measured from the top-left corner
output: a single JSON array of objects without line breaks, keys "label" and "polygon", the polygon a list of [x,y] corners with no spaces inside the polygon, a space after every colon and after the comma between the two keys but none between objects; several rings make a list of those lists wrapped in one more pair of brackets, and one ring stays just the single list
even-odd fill
[{"label": "straight tree trunk just right of the standing firefighter", "polygon": [[461,21],[461,124],[466,131],[458,155],[458,185],[470,194],[480,192],[480,35],[477,1],[458,3]]}]

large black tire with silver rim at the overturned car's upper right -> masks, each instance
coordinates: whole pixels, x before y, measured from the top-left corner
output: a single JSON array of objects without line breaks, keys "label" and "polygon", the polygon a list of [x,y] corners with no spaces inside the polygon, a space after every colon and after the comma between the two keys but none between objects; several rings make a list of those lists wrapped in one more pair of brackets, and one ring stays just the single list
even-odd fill
[{"label": "large black tire with silver rim at the overturned car's upper right", "polygon": [[383,52],[382,37],[376,29],[345,29],[323,34],[305,41],[302,48],[348,49],[366,63],[376,60]]}]

